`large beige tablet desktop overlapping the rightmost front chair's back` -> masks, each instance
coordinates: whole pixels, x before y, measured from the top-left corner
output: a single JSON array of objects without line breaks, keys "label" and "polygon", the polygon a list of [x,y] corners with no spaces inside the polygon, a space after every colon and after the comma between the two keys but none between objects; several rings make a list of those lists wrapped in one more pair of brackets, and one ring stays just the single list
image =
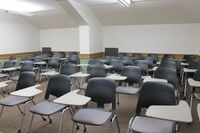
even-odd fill
[{"label": "large beige tablet desktop overlapping the rightmost front chair's back", "polygon": [[192,114],[186,101],[180,101],[174,106],[150,106],[147,109],[146,116],[169,121],[191,123]]}]

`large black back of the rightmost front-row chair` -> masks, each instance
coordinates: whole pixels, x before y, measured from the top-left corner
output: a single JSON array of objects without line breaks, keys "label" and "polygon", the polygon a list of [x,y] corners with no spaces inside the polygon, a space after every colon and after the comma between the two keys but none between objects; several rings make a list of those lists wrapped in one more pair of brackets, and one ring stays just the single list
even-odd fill
[{"label": "large black back of the rightmost front-row chair", "polygon": [[168,83],[144,83],[137,102],[136,115],[140,115],[142,108],[148,108],[151,105],[175,105],[174,91],[174,87]]}]

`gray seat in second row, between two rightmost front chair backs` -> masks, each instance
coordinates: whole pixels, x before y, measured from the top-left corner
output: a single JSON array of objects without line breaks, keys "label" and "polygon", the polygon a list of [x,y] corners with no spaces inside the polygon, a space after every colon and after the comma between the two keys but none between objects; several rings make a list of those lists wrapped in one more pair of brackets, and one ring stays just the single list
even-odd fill
[{"label": "gray seat in second row, between two rightmost front chair backs", "polygon": [[134,88],[134,87],[117,87],[116,88],[117,93],[128,94],[128,95],[138,94],[139,91],[140,91],[139,88]]}]

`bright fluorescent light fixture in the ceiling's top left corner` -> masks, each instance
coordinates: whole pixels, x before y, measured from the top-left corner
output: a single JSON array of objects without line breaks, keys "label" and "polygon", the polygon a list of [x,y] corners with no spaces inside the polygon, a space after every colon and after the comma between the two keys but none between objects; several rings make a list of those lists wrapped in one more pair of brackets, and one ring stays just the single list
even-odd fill
[{"label": "bright fluorescent light fixture in the ceiling's top left corner", "polygon": [[32,16],[32,12],[42,11],[45,7],[28,0],[0,0],[0,11]]}]

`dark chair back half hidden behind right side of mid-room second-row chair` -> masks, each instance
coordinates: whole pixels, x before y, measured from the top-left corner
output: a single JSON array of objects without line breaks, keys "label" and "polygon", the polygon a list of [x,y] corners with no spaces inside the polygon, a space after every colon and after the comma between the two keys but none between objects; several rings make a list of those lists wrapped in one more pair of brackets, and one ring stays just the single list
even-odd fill
[{"label": "dark chair back half hidden behind right side of mid-room second-row chair", "polygon": [[142,71],[142,75],[148,75],[149,74],[149,64],[146,60],[136,60],[134,62],[135,66],[139,66]]}]

